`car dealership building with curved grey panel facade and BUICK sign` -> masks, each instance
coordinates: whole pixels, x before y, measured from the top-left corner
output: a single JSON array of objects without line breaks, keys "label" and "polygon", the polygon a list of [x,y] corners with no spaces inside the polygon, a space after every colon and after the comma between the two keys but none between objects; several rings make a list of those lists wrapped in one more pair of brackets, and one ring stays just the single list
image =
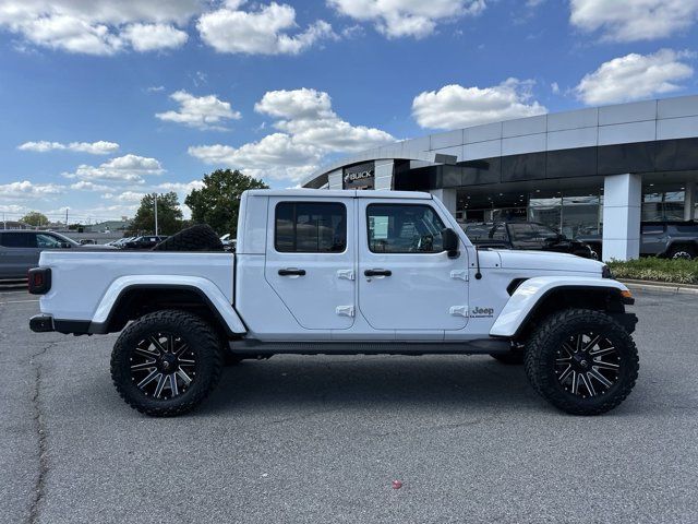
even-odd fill
[{"label": "car dealership building with curved grey panel facade and BUICK sign", "polygon": [[541,115],[344,158],[306,188],[429,191],[459,222],[529,219],[639,253],[640,222],[696,218],[698,96]]}]

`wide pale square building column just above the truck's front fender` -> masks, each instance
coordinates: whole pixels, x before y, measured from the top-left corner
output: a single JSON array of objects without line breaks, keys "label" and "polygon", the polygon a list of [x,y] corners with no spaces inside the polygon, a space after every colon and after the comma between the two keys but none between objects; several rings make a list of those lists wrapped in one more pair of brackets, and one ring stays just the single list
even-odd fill
[{"label": "wide pale square building column just above the truck's front fender", "polygon": [[642,177],[611,175],[603,181],[603,260],[640,257]]}]

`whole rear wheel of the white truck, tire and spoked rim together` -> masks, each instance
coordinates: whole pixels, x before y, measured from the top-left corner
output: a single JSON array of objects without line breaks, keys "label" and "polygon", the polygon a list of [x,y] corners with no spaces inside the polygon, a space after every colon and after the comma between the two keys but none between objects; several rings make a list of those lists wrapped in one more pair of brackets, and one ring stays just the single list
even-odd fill
[{"label": "whole rear wheel of the white truck, tire and spoked rim together", "polygon": [[218,383],[221,367],[213,327],[178,310],[140,318],[111,353],[111,380],[121,397],[156,417],[180,415],[200,404]]}]

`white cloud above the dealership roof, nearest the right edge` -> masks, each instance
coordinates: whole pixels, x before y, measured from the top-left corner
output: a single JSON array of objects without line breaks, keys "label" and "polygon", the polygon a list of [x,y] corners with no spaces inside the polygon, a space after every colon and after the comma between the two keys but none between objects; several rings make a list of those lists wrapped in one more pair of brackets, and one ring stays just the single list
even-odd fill
[{"label": "white cloud above the dealership roof, nearest the right edge", "polygon": [[678,91],[677,83],[693,76],[694,69],[683,59],[686,51],[661,49],[652,55],[630,53],[604,62],[575,87],[587,105],[611,104],[648,98]]}]

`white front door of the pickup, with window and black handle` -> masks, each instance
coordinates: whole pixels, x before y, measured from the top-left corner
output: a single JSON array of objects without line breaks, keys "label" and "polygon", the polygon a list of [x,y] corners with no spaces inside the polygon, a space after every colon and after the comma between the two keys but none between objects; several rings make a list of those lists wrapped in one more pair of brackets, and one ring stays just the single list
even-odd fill
[{"label": "white front door of the pickup, with window and black handle", "polygon": [[442,249],[445,221],[424,203],[359,199],[359,308],[377,330],[461,330],[468,261]]}]

